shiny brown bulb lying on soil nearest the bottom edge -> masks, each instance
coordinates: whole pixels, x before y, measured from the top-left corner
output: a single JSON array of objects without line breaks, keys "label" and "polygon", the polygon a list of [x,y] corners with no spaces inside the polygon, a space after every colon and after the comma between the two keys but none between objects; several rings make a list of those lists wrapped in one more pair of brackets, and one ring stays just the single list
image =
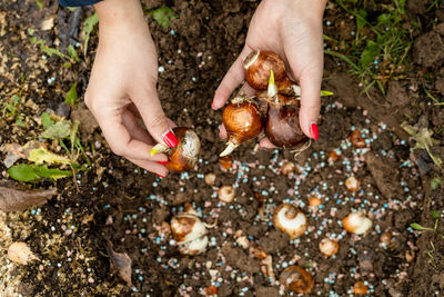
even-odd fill
[{"label": "shiny brown bulb lying on soil nearest the bottom edge", "polygon": [[279,280],[286,290],[296,294],[311,293],[314,287],[314,280],[311,274],[299,266],[290,266],[281,273]]}]

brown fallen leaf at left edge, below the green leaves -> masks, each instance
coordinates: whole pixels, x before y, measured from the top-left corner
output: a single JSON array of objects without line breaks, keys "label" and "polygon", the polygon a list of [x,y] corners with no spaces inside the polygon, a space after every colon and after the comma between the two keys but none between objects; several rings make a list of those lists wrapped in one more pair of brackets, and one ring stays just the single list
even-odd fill
[{"label": "brown fallen leaf at left edge, below the green leaves", "polygon": [[30,206],[43,205],[49,198],[57,195],[56,189],[26,189],[14,182],[0,181],[0,210],[19,211]]}]

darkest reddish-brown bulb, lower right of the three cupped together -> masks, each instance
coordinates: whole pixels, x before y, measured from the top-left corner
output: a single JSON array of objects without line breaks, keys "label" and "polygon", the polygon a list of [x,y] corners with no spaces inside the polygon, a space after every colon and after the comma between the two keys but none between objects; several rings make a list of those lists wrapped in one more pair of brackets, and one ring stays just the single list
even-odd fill
[{"label": "darkest reddish-brown bulb, lower right of the three cupped together", "polygon": [[273,145],[291,148],[309,141],[299,126],[299,110],[295,103],[270,105],[265,135]]}]

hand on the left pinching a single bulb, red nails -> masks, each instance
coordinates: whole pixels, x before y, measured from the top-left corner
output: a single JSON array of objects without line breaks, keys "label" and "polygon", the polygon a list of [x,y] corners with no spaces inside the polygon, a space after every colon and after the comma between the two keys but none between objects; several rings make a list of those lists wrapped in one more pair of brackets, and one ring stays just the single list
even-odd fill
[{"label": "hand on the left pinching a single bulb, red nails", "polygon": [[[165,177],[162,164],[168,157],[151,156],[150,150],[158,142],[174,147],[178,140],[158,98],[158,56],[141,4],[139,0],[107,0],[94,8],[99,46],[85,103],[114,154]],[[148,131],[138,125],[140,118]]]}]

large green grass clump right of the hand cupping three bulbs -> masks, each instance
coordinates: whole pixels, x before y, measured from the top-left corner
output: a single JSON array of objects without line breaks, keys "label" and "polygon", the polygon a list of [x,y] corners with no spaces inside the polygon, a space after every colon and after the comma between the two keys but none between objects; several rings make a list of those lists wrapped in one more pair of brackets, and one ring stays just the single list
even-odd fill
[{"label": "large green grass clump right of the hand cupping three bulbs", "polygon": [[[349,63],[352,67],[351,71],[360,78],[365,93],[369,95],[369,90],[377,86],[385,96],[387,81],[403,75],[403,65],[413,44],[414,21],[410,22],[411,28],[403,27],[406,23],[405,0],[377,4],[381,13],[372,20],[364,9],[365,1],[353,1],[352,8],[342,0],[336,2],[346,13],[354,17],[355,39],[344,50],[346,53],[334,50],[326,50],[325,53]],[[324,40],[334,42],[331,39]]]}]

